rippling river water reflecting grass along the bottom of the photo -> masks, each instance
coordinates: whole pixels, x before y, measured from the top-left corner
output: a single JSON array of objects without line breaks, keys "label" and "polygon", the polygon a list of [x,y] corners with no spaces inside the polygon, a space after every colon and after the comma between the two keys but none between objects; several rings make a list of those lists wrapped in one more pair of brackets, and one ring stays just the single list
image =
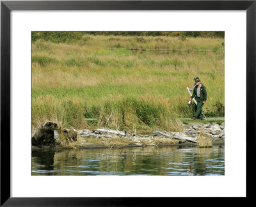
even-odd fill
[{"label": "rippling river water reflecting grass along the bottom of the photo", "polygon": [[224,175],[224,146],[32,150],[32,175]]}]

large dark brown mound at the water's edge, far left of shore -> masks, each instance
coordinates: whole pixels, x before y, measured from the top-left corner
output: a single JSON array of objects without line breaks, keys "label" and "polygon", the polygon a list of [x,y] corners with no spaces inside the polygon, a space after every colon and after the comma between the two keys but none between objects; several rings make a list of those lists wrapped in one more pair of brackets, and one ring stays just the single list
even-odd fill
[{"label": "large dark brown mound at the water's edge, far left of shore", "polygon": [[42,146],[54,147],[55,146],[54,130],[60,130],[60,127],[58,126],[58,124],[53,123],[51,121],[42,123],[36,129],[36,132],[31,139],[32,146],[38,146],[39,148],[42,148]]}]

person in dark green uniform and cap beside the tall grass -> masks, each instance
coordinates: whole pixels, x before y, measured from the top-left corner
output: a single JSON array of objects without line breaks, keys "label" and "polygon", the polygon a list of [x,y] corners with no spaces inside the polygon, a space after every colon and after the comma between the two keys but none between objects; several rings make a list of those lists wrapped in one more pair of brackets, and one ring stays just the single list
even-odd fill
[{"label": "person in dark green uniform and cap beside the tall grass", "polygon": [[192,119],[199,118],[204,120],[204,116],[202,114],[202,107],[204,106],[207,99],[207,92],[205,86],[201,83],[198,77],[195,77],[195,87],[193,87],[193,95],[189,98],[191,101],[192,98],[195,97],[197,105],[195,104],[195,114]]}]

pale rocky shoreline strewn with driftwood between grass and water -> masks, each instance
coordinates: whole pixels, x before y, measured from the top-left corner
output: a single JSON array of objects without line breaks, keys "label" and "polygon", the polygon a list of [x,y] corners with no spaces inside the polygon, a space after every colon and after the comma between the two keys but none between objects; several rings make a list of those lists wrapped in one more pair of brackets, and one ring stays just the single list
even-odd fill
[{"label": "pale rocky shoreline strewn with driftwood between grass and water", "polygon": [[[97,128],[95,130],[74,130],[77,142],[71,147],[79,149],[92,148],[127,148],[142,146],[199,146],[200,137],[207,137],[212,145],[225,144],[225,126],[216,123],[183,124],[183,132],[166,132],[154,130],[151,134],[134,134],[127,131]],[[60,143],[60,135],[54,131],[56,143]],[[210,146],[211,147],[211,146]],[[56,145],[60,148],[60,145]],[[62,146],[63,148],[63,146]]]}]

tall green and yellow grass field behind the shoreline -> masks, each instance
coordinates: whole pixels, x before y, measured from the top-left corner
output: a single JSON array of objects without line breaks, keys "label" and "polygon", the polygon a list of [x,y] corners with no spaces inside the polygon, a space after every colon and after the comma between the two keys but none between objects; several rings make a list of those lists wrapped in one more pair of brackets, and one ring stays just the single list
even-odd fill
[{"label": "tall green and yellow grass field behind the shoreline", "polygon": [[205,116],[224,117],[223,33],[140,34],[32,32],[32,127],[183,132],[195,76]]}]

